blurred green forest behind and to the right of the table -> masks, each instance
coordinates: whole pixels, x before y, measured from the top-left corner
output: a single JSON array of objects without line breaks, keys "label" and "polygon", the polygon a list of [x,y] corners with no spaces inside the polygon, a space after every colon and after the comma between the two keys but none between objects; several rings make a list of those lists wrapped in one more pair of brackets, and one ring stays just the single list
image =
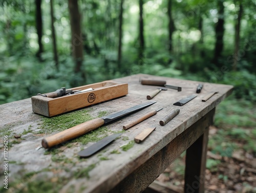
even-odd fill
[{"label": "blurred green forest behind and to the right of the table", "polygon": [[[0,104],[137,73],[232,84],[232,96],[217,109],[217,137],[209,141],[211,153],[223,159],[207,164],[232,189],[228,182],[236,175],[218,170],[224,158],[235,166],[238,157],[255,161],[255,0],[0,5]],[[238,180],[241,187],[256,186],[251,172]]]}]

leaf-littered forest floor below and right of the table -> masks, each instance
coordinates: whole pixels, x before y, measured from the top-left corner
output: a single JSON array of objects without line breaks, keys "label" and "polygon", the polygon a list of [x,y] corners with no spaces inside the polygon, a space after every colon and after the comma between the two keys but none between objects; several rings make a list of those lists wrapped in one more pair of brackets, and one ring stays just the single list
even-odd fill
[{"label": "leaf-littered forest floor below and right of the table", "polygon": [[[222,103],[209,128],[205,192],[256,192],[256,105],[235,99]],[[185,153],[156,183],[183,192],[184,169]]]}]

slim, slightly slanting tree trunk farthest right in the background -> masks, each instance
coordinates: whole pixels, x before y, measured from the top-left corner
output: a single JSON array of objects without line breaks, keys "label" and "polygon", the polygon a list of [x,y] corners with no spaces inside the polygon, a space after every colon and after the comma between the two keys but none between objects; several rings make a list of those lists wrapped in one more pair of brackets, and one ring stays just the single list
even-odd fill
[{"label": "slim, slightly slanting tree trunk farthest right in the background", "polygon": [[233,71],[237,70],[238,65],[238,51],[240,45],[240,26],[241,26],[241,18],[242,18],[243,6],[240,2],[239,5],[239,12],[238,12],[238,19],[236,20],[235,26],[235,34],[234,34],[234,62],[233,62]]}]

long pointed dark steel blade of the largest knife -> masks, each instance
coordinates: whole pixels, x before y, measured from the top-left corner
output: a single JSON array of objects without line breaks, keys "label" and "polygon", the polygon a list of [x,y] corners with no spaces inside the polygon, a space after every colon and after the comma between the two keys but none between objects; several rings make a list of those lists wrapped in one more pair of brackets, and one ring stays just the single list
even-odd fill
[{"label": "long pointed dark steel blade of the largest knife", "polygon": [[148,102],[144,102],[142,104],[138,104],[138,105],[135,105],[129,109],[125,109],[123,111],[119,111],[119,112],[116,112],[116,113],[113,113],[111,115],[108,115],[108,116],[104,116],[104,117],[101,117],[102,119],[104,119],[104,123],[108,123],[110,121],[113,121],[115,119],[118,119],[124,115],[127,115],[127,114],[130,114],[130,113],[133,113],[135,111],[138,111],[140,109],[143,109],[145,108],[146,106],[150,106],[151,104],[154,104],[156,103],[157,101],[148,101]]}]

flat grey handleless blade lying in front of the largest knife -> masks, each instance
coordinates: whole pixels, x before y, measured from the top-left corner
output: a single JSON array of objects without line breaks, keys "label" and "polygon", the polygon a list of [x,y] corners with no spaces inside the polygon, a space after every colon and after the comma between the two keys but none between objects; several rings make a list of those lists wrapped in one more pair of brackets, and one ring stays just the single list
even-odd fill
[{"label": "flat grey handleless blade lying in front of the largest knife", "polygon": [[80,157],[89,157],[96,152],[98,152],[100,149],[102,149],[104,146],[110,144],[112,141],[114,141],[117,137],[119,137],[121,134],[113,134],[108,137],[105,137],[101,139],[100,141],[94,143],[90,147],[87,147],[86,149],[83,149],[83,151],[79,152],[78,155]]}]

